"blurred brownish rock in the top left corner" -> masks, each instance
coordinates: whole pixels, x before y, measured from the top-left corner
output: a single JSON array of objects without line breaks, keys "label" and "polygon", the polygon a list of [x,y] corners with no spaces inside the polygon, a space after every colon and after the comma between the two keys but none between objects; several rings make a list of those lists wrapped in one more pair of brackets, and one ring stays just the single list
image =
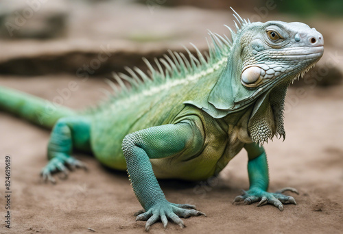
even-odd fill
[{"label": "blurred brownish rock in the top left corner", "polygon": [[57,38],[67,27],[69,1],[0,1],[1,38]]}]

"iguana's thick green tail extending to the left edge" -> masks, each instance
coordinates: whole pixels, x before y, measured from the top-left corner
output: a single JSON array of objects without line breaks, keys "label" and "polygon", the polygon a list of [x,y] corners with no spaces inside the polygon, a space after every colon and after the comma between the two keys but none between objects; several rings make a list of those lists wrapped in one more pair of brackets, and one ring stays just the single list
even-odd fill
[{"label": "iguana's thick green tail extending to the left edge", "polygon": [[34,124],[52,129],[55,122],[62,117],[74,116],[76,113],[67,107],[54,105],[30,94],[0,86],[0,111],[10,112]]}]

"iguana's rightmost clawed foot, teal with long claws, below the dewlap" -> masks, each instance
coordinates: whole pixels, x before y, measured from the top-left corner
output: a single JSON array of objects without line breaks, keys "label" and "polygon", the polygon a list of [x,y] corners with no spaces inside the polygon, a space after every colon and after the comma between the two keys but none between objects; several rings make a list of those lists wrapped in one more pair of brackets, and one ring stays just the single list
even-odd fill
[{"label": "iguana's rightmost clawed foot, teal with long claws, below the dewlap", "polygon": [[233,200],[233,203],[238,203],[244,200],[245,205],[250,205],[252,203],[260,201],[257,205],[258,207],[265,204],[272,204],[275,207],[278,207],[280,211],[283,211],[283,204],[296,205],[296,200],[294,199],[294,197],[282,194],[286,191],[299,194],[298,191],[292,187],[285,187],[282,190],[276,191],[275,193],[265,192],[263,190],[255,188],[248,191],[242,190],[241,195],[236,196],[235,200]]}]

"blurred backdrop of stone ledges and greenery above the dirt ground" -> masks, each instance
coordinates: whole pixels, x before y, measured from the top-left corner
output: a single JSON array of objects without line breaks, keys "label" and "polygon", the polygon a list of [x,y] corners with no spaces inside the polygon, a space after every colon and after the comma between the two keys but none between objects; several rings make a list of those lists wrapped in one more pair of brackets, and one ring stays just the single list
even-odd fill
[{"label": "blurred backdrop of stone ledges and greenery above the dirt ground", "polygon": [[205,51],[207,29],[229,34],[230,6],[250,21],[307,23],[323,34],[326,52],[343,49],[340,0],[2,0],[0,75],[110,77],[189,42]]}]

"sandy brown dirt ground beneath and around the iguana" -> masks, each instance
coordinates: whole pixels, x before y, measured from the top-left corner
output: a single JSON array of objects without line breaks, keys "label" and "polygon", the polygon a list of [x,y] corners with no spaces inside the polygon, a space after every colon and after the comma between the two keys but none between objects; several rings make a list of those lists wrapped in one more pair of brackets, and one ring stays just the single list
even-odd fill
[{"label": "sandy brown dirt ground beneath and around the iguana", "polygon": [[[16,88],[52,100],[57,88],[75,77],[1,77],[1,86]],[[76,80],[77,81],[77,80]],[[101,79],[88,79],[64,103],[80,109],[102,98]],[[272,205],[233,205],[241,189],[248,189],[246,153],[241,152],[211,185],[161,181],[167,199],[192,203],[207,217],[189,218],[186,229],[161,222],[150,233],[342,233],[343,231],[343,86],[307,88],[301,98],[289,90],[285,113],[285,142],[265,145],[270,164],[270,191],[296,187],[298,205],[283,212]],[[0,114],[0,233],[145,233],[145,222],[135,222],[141,209],[125,172],[108,170],[89,155],[76,155],[89,171],[72,172],[56,185],[41,183],[40,169],[49,131],[19,118]],[[12,229],[5,229],[4,158],[12,157]]]}]

